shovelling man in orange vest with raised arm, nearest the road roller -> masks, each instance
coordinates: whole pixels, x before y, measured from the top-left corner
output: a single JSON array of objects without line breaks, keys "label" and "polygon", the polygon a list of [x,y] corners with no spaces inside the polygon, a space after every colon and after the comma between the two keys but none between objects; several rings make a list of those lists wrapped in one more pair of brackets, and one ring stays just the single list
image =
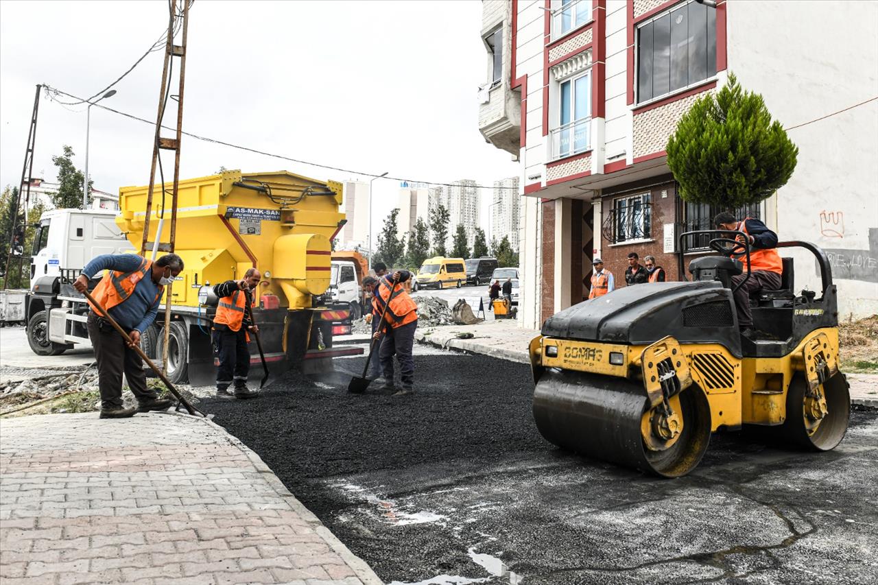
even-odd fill
[{"label": "shovelling man in orange vest with raised arm, nearest the road roller", "polygon": [[[396,271],[392,275],[381,278],[364,278],[363,285],[372,291],[372,319],[380,319],[384,313],[385,324],[383,328],[375,331],[372,336],[381,342],[381,370],[384,375],[382,390],[396,390],[393,382],[393,356],[399,360],[399,373],[402,386],[394,396],[411,394],[414,392],[414,329],[418,327],[418,306],[405,289],[399,283],[406,282],[411,278],[409,271]],[[396,285],[394,286],[394,281]]]}]

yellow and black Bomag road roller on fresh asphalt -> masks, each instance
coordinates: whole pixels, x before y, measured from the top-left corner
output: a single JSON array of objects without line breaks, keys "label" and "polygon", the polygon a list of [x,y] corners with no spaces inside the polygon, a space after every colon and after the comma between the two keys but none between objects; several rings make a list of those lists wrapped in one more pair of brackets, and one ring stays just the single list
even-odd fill
[{"label": "yellow and black Bomag road roller on fresh asphalt", "polygon": [[[781,290],[750,298],[757,333],[744,336],[733,294],[745,280],[732,277],[751,278],[745,235],[687,232],[679,250],[687,238],[717,253],[692,260],[691,280],[626,286],[543,323],[529,347],[537,429],[565,450],[667,478],[699,464],[711,433],[744,425],[833,449],[845,436],[850,398],[824,251],[778,244],[816,258],[822,294],[795,293],[793,258],[783,257]],[[681,251],[677,259],[685,275]]]}]

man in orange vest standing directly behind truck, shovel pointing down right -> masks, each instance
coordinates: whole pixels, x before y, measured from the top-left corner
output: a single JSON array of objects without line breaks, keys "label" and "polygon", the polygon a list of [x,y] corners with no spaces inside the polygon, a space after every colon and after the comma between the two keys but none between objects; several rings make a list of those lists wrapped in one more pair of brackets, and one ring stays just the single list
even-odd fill
[{"label": "man in orange vest standing directly behind truck, shovel pointing down right", "polygon": [[232,398],[228,386],[234,383],[234,398],[247,399],[259,395],[258,390],[247,387],[250,372],[250,341],[248,330],[259,328],[250,321],[247,304],[255,307],[255,288],[263,275],[255,268],[248,268],[241,280],[227,280],[213,287],[219,297],[217,314],[213,317],[211,337],[213,355],[219,358],[217,368],[217,398]]}]

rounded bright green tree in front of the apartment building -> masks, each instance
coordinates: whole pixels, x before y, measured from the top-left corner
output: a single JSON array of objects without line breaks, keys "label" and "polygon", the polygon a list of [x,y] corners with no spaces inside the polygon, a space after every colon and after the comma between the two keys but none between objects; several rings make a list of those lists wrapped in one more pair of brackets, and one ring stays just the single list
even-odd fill
[{"label": "rounded bright green tree in front of the apartment building", "polygon": [[758,93],[738,79],[698,98],[667,141],[680,197],[723,209],[759,203],[787,183],[799,149]]}]

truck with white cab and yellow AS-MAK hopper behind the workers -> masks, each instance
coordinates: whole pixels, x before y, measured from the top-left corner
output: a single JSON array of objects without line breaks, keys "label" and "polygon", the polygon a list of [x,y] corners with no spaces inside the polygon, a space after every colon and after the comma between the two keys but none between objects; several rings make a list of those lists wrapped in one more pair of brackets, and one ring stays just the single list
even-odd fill
[{"label": "truck with white cab and yellow AS-MAK hopper behind the workers", "polygon": [[[161,193],[162,187],[157,185],[155,191]],[[119,190],[115,223],[133,249],[140,249],[147,213],[148,249],[153,248],[162,205],[169,203],[167,198],[163,202],[161,196],[154,197],[147,210],[147,194],[147,186]],[[332,358],[363,352],[333,346],[333,322],[346,319],[349,307],[334,304],[325,294],[330,242],[345,221],[339,213],[342,184],[287,171],[227,170],[181,180],[177,201],[174,251],[183,257],[185,268],[170,289],[167,372],[172,382],[212,383],[210,329],[217,303],[212,286],[243,278],[250,267],[263,273],[253,314],[272,370],[296,367],[320,372],[332,368]],[[163,214],[169,219],[170,210]],[[160,242],[168,242],[167,232]],[[167,243],[160,243],[158,249],[168,249]],[[84,328],[88,306],[72,287],[82,268],[61,266],[58,274],[40,278],[33,286],[29,314],[45,315],[41,322],[46,323],[44,337],[50,351],[88,341]],[[92,279],[90,288],[99,277]],[[159,316],[141,336],[143,350],[157,360],[164,353],[165,302],[162,299]],[[258,362],[252,343],[250,354]]]}]

